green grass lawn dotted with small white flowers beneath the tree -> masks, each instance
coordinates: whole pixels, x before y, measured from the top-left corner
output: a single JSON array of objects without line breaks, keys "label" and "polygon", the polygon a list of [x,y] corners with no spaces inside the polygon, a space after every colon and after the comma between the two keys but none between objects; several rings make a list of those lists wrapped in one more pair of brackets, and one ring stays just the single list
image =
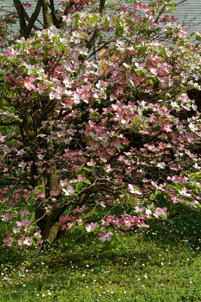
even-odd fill
[{"label": "green grass lawn dotted with small white flowers beneath the tree", "polygon": [[200,302],[200,218],[116,233],[109,249],[79,233],[48,251],[1,249],[0,302]]}]

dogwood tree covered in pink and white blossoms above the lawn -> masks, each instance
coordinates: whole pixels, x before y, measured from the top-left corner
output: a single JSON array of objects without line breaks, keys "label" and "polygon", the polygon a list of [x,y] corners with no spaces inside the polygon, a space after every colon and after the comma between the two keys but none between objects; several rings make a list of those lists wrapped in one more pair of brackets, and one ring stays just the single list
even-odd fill
[{"label": "dogwood tree covered in pink and white blossoms above the lawn", "polygon": [[37,30],[29,4],[14,4],[21,37],[10,39],[11,13],[1,31],[4,243],[76,228],[104,243],[198,210],[200,48],[167,15],[175,5],[73,0],[49,15],[38,1]]}]

